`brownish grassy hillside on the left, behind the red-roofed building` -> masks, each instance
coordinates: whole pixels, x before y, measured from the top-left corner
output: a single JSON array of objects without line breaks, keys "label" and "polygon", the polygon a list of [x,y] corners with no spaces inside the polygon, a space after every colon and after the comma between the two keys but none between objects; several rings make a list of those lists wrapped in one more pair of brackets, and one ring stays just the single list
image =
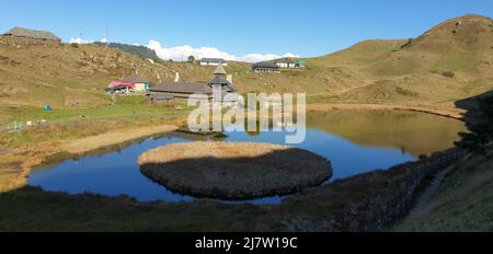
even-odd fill
[{"label": "brownish grassy hillside on the left, behind the red-roofed building", "polygon": [[112,80],[140,73],[157,80],[172,72],[112,48],[92,45],[59,47],[0,46],[0,104],[50,104],[70,107],[103,105]]}]

